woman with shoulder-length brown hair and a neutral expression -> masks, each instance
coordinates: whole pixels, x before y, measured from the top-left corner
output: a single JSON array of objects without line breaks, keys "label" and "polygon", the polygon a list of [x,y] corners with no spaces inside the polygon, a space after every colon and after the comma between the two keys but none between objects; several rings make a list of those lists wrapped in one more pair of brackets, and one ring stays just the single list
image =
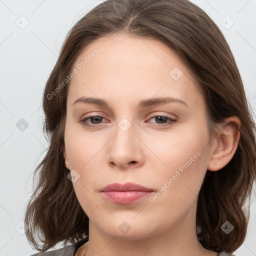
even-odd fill
[{"label": "woman with shoulder-length brown hair and a neutral expression", "polygon": [[[231,255],[255,125],[219,28],[187,0],[106,0],[47,80],[49,148],[25,222],[36,255]],[[72,244],[45,252],[64,241]]]}]

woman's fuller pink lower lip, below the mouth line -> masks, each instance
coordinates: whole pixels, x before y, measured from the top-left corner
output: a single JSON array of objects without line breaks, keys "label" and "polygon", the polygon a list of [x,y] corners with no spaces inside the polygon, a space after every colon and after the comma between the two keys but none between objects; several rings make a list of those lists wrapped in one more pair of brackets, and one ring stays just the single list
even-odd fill
[{"label": "woman's fuller pink lower lip, below the mouth line", "polygon": [[109,201],[115,203],[132,203],[139,201],[153,191],[103,191],[102,195]]}]

